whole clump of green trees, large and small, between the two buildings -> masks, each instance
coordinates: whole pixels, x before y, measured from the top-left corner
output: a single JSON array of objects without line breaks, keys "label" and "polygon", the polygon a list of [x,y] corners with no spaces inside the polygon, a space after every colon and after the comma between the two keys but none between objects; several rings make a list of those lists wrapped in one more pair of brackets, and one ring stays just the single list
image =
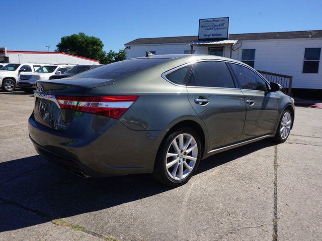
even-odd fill
[{"label": "whole clump of green trees, large and small, between the two buildings", "polygon": [[61,37],[55,51],[97,59],[100,60],[100,64],[110,64],[125,60],[125,49],[120,49],[118,53],[113,50],[107,53],[103,51],[103,47],[104,44],[99,38],[78,33]]}]

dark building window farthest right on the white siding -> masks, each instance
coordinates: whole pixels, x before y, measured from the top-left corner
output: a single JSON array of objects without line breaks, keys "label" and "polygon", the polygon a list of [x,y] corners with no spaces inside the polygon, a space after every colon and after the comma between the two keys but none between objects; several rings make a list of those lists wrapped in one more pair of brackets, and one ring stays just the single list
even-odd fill
[{"label": "dark building window farthest right on the white siding", "polygon": [[317,73],[321,48],[305,48],[303,73]]}]

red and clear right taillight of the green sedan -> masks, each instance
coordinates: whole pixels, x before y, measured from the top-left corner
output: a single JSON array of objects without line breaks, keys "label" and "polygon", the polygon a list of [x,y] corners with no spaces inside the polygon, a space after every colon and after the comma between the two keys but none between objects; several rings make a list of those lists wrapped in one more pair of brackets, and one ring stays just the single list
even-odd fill
[{"label": "red and clear right taillight of the green sedan", "polygon": [[56,99],[62,109],[73,109],[118,119],[138,97],[138,95],[56,96]]}]

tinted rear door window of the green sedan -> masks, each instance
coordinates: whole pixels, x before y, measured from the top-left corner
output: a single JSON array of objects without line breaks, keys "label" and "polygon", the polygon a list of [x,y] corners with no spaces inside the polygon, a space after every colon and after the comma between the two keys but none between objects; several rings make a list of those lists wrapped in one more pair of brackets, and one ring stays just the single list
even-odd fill
[{"label": "tinted rear door window of the green sedan", "polygon": [[189,86],[235,88],[225,62],[197,62],[193,66]]}]

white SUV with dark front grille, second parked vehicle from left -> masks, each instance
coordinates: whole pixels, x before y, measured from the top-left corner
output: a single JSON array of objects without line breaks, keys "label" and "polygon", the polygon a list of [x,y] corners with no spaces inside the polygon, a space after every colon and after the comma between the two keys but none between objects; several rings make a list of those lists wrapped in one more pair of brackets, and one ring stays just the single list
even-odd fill
[{"label": "white SUV with dark front grille, second parked vehicle from left", "polygon": [[72,68],[74,64],[47,64],[37,69],[35,73],[20,75],[18,86],[25,92],[32,92],[36,89],[37,80],[48,80],[53,73],[65,73],[66,70]]}]

